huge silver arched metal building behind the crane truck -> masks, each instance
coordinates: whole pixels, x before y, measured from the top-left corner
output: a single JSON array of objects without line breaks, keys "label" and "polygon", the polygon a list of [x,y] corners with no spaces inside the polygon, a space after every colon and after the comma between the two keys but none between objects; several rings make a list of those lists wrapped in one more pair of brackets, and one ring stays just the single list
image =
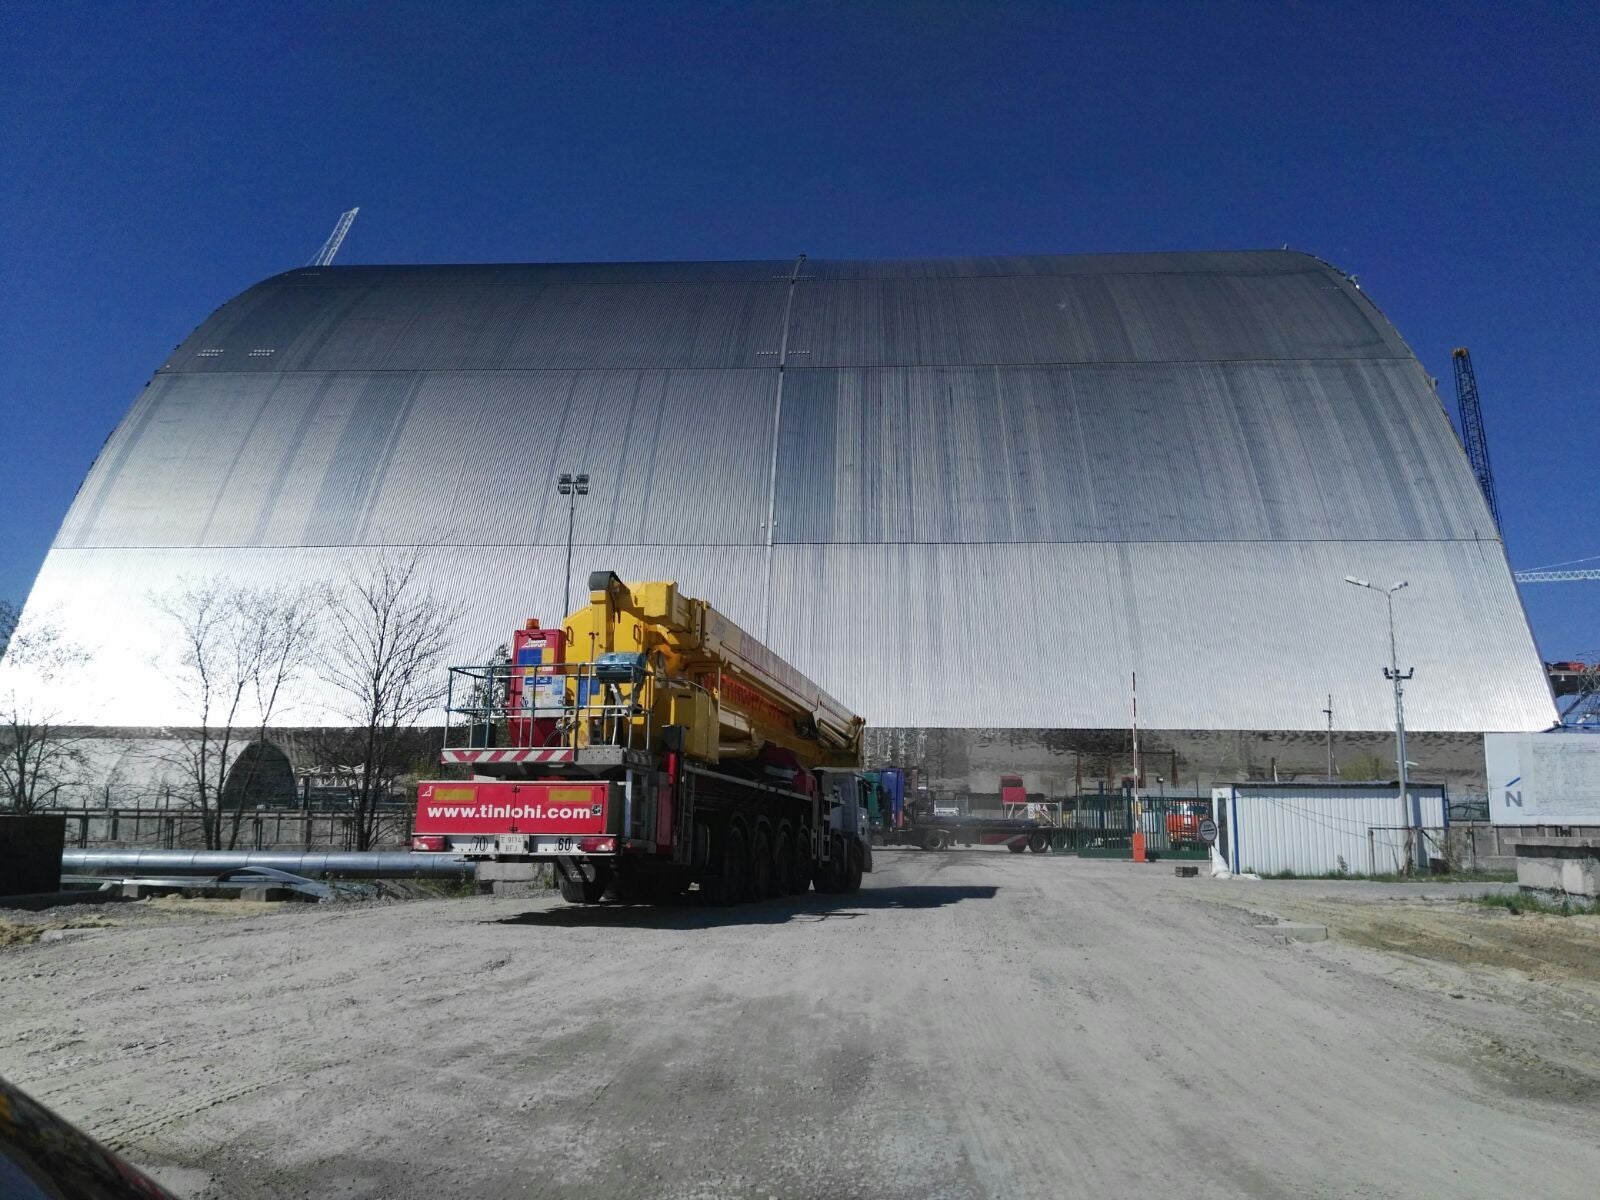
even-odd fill
[{"label": "huge silver arched metal building behind the crane truck", "polygon": [[[573,578],[677,579],[947,790],[1483,786],[1552,725],[1434,381],[1293,251],[306,267],[205,318],[107,440],[27,600],[93,653],[58,709],[192,723],[152,595],[414,547],[482,661]],[[1331,706],[1330,706],[1331,696]],[[1331,712],[1331,738],[1328,734]],[[338,715],[315,683],[285,723]],[[298,763],[298,770],[307,765]]]}]

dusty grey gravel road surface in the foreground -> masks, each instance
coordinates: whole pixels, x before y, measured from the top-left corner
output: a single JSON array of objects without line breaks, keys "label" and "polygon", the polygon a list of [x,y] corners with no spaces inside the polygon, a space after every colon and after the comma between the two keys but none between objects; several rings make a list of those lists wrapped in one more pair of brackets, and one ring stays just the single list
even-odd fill
[{"label": "dusty grey gravel road surface in the foreground", "polygon": [[1384,949],[1389,893],[891,851],[723,912],[170,907],[0,949],[0,1074],[197,1198],[1594,1197],[1600,982]]}]

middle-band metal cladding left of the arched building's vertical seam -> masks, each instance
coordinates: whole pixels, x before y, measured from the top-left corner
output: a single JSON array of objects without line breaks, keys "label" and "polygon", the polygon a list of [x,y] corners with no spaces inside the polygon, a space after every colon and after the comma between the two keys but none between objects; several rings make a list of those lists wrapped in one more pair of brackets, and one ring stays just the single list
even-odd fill
[{"label": "middle-band metal cladding left of the arched building's vertical seam", "polygon": [[774,389],[773,371],[160,376],[58,546],[555,546],[560,470],[605,480],[579,541],[765,542]]}]

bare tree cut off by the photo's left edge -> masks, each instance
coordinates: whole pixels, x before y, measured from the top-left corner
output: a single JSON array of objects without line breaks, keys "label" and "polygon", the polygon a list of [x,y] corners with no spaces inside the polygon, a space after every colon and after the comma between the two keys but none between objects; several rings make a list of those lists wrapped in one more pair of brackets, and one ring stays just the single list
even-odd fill
[{"label": "bare tree cut off by the photo's left edge", "polygon": [[0,803],[13,813],[51,808],[83,762],[78,726],[45,707],[61,677],[88,659],[46,619],[22,622],[11,603],[0,603],[0,656],[6,669],[0,693]]}]

